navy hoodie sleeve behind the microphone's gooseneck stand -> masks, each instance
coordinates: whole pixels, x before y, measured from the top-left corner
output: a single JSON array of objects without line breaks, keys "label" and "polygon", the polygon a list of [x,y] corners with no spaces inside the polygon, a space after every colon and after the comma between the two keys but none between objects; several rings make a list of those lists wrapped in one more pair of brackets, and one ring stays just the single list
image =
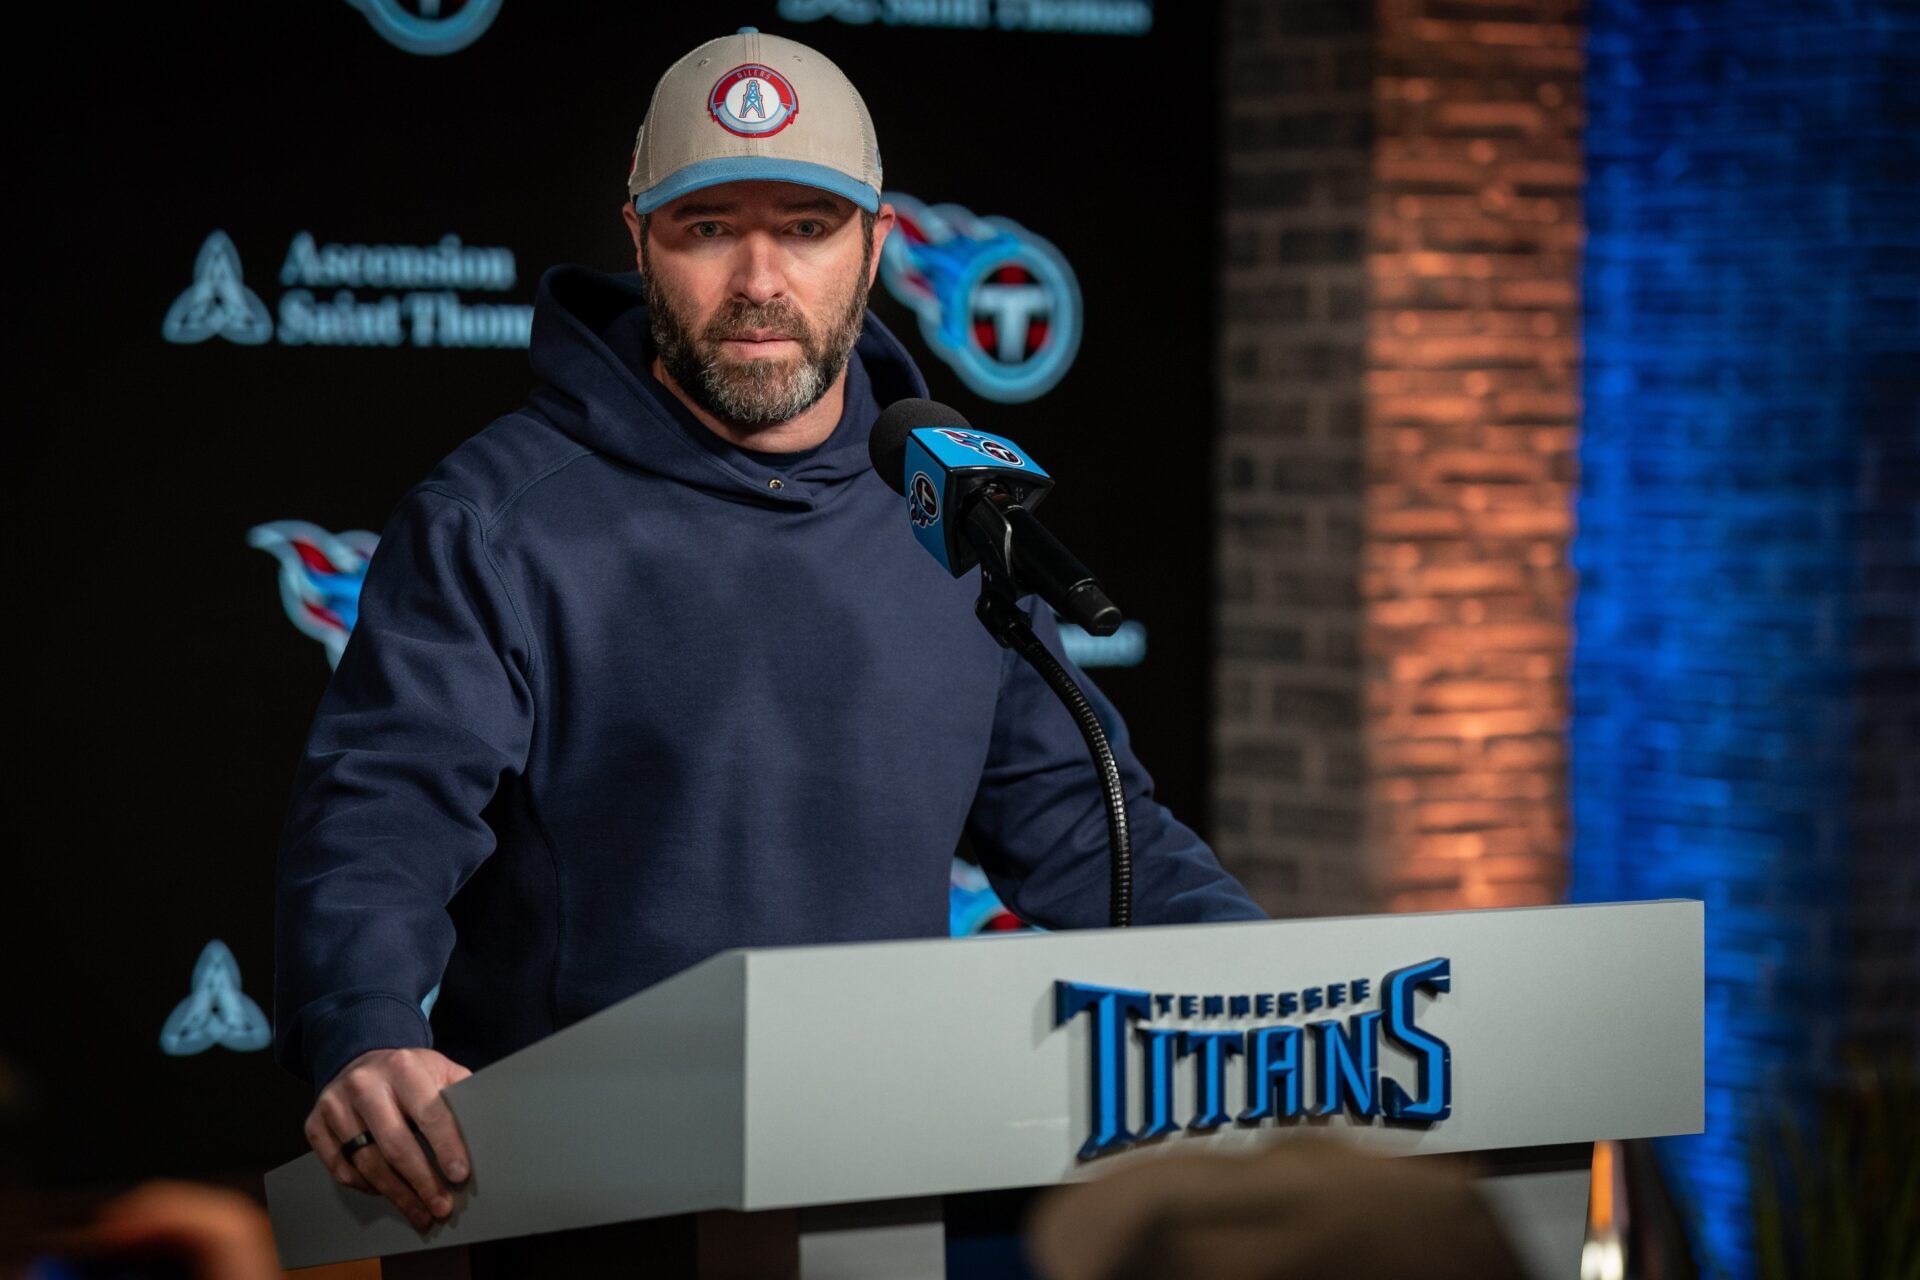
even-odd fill
[{"label": "navy hoodie sleeve behind the microphone's gooseneck stand", "polygon": [[[1127,743],[1127,725],[1060,645],[1060,624],[1039,601],[1027,616],[1046,649],[1092,702],[1119,764],[1133,827],[1133,921],[1175,925],[1267,919],[1213,850],[1154,800],[1154,779]],[[1000,654],[993,747],[968,835],[1002,902],[1046,929],[1108,921],[1108,839],[1100,781],[1073,716],[1020,654]]]}]

